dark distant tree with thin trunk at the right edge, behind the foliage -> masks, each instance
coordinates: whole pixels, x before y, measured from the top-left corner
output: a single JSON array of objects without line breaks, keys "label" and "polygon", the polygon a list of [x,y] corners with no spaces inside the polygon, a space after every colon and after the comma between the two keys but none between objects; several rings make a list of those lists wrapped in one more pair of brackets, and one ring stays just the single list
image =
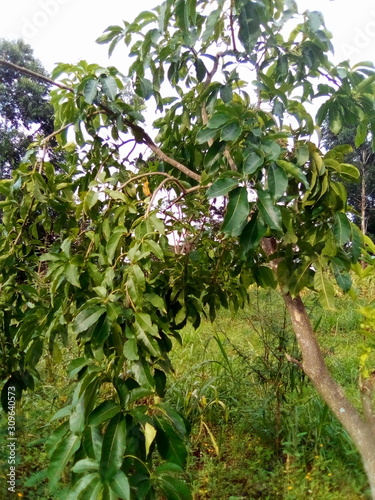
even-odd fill
[{"label": "dark distant tree with thin trunk at the right edge, behind the foliage", "polygon": [[[358,130],[357,130],[358,128]],[[367,127],[365,129],[367,131]],[[375,155],[372,151],[370,141],[366,140],[359,145],[361,140],[360,127],[344,127],[335,135],[329,128],[322,127],[323,146],[332,149],[335,146],[350,146],[345,161],[358,167],[360,172],[360,182],[348,182],[348,203],[357,211],[354,220],[361,227],[364,234],[375,234],[375,212],[374,212],[374,192],[375,192]]]}]

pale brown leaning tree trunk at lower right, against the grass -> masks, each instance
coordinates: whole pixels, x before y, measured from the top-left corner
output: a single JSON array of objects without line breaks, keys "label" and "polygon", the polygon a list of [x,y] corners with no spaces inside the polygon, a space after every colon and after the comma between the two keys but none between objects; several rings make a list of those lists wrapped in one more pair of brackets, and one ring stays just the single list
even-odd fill
[{"label": "pale brown leaning tree trunk at lower right, against the grass", "polygon": [[299,296],[293,299],[289,293],[283,298],[302,352],[302,368],[357,447],[375,500],[375,415],[372,405],[375,382],[366,381],[361,387],[362,417],[328,371],[302,299]]}]

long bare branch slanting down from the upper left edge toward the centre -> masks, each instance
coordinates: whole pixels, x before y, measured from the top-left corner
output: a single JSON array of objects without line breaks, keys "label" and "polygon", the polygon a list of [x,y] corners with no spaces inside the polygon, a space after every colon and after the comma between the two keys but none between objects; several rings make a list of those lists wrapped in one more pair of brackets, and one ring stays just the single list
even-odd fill
[{"label": "long bare branch slanting down from the upper left edge toward the centre", "polygon": [[[23,68],[21,66],[18,66],[17,64],[13,64],[9,61],[6,61],[5,59],[0,59],[0,65],[7,66],[7,67],[12,68],[16,71],[20,71],[21,73],[29,75],[33,78],[37,78],[38,80],[49,83],[50,85],[54,85],[56,87],[59,87],[61,89],[68,90],[69,92],[74,93],[74,89],[71,87],[68,87],[67,85],[63,85],[59,82],[55,82],[51,78],[48,78],[48,77],[41,75],[39,73],[36,73],[34,71],[31,71],[27,68]],[[110,115],[116,115],[116,113],[114,113],[104,103],[100,103],[99,106],[104,111],[109,113]],[[140,127],[139,125],[136,125],[135,123],[131,122],[130,120],[124,120],[124,123],[131,129],[137,142],[148,146],[151,149],[151,151],[153,151],[156,154],[156,156],[158,156],[158,158],[160,160],[165,161],[166,163],[168,163],[172,167],[177,168],[178,170],[180,170],[180,172],[182,172],[186,176],[190,177],[191,179],[194,179],[195,181],[200,182],[201,176],[199,174],[197,174],[196,172],[193,172],[192,170],[190,170],[188,167],[186,167],[185,165],[183,165],[179,161],[174,160],[173,158],[171,158],[170,156],[165,154],[160,148],[158,148],[158,146],[154,143],[154,141],[151,139],[151,137],[146,133],[146,131],[142,127]],[[64,127],[64,129],[66,127]],[[56,134],[54,134],[54,135],[56,135]]]}]

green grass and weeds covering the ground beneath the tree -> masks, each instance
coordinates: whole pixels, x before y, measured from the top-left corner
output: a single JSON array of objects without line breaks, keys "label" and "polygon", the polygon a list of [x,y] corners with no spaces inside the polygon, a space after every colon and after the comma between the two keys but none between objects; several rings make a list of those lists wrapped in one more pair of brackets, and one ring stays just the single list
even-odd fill
[{"label": "green grass and weeds covering the ground beneath the tree", "polygon": [[[373,288],[370,283],[356,302],[338,297],[335,312],[305,296],[329,368],[358,406],[362,338],[355,309],[375,296]],[[174,345],[167,399],[192,424],[187,479],[195,500],[369,498],[350,439],[286,352],[299,356],[283,303],[275,292],[255,289],[246,310],[235,317],[224,311],[198,330],[186,327],[183,345]],[[71,353],[62,357],[67,362]],[[62,365],[51,369],[45,361],[42,374],[44,381],[17,410],[18,491],[30,500],[52,498],[44,442],[54,425],[50,418],[70,396]],[[5,430],[4,424],[3,438]],[[6,494],[0,488],[0,498]],[[63,490],[54,494],[58,498]]]}]

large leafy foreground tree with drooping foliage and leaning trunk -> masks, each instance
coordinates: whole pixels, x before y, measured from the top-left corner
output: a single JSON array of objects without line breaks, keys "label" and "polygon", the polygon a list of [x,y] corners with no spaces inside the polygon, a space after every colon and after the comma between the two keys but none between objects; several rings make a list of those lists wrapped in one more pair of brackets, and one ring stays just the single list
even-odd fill
[{"label": "large leafy foreground tree with drooping foliage and leaning trunk", "polygon": [[[373,368],[361,372],[359,411],[332,378],[301,298],[309,288],[334,308],[331,275],[350,291],[349,271],[361,275],[375,251],[348,212],[344,181],[358,169],[342,148],[323,153],[311,141],[325,119],[334,132],[358,122],[365,139],[373,66],[335,67],[321,14],[298,15],[292,0],[167,0],[99,38],[110,53],[121,41],[135,92],[160,113],[155,141],[137,102],[124,102],[116,68],[61,64],[52,103],[64,171],[35,145],[1,183],[3,401],[10,386],[32,386],[44,344],[53,353],[74,339],[76,388],[48,447],[52,487],[73,461],[71,498],[188,499],[178,477],[186,425],[160,400],[170,339],[207,310],[236,311],[251,283],[279,287],[301,350],[292,361],[350,434],[375,498]],[[315,122],[304,104],[321,96]],[[130,160],[137,144],[148,161]],[[175,254],[169,237],[182,232],[189,244]]]}]

